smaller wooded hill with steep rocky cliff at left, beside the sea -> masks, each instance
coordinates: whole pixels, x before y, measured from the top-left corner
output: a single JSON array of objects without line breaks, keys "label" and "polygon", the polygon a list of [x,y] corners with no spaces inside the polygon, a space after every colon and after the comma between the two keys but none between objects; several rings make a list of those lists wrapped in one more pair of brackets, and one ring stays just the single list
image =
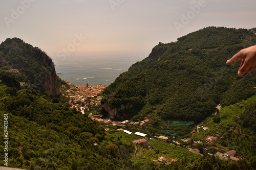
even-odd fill
[{"label": "smaller wooded hill with steep rocky cliff at left, beside the sea", "polygon": [[15,77],[48,95],[59,94],[52,59],[38,47],[19,38],[7,38],[0,44],[0,69],[18,69]]}]

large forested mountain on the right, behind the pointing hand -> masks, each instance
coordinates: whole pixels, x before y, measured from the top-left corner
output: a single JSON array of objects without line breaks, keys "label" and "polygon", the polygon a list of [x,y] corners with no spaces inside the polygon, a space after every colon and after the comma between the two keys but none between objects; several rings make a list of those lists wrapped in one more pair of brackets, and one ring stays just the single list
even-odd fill
[{"label": "large forested mountain on the right, behind the pointing hand", "polygon": [[200,121],[217,104],[228,106],[255,94],[255,71],[237,76],[240,63],[226,61],[254,45],[252,30],[208,27],[156,45],[105,89],[102,106],[112,119],[142,119],[157,113],[162,119]]}]

